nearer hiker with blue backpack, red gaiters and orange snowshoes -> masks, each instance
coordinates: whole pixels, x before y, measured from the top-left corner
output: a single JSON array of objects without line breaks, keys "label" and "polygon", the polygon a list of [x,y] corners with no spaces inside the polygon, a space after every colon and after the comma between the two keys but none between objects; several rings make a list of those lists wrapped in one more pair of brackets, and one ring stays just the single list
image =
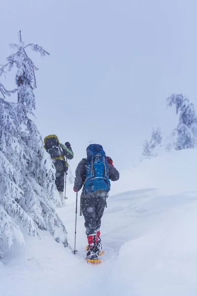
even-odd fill
[{"label": "nearer hiker with blue backpack, red gaiters and orange snowshoes", "polygon": [[102,254],[101,217],[110,190],[110,180],[117,181],[119,172],[113,166],[112,159],[106,157],[101,145],[91,144],[86,151],[87,158],[83,158],[76,168],[73,190],[78,192],[83,187],[81,210],[88,238],[86,259],[91,262],[99,261],[98,257]]}]

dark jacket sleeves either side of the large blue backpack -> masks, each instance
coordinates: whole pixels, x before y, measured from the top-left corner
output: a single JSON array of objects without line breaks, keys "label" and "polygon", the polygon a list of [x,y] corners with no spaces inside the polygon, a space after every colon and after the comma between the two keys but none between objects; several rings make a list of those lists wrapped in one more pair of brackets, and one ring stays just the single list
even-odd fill
[{"label": "dark jacket sleeves either side of the large blue backpack", "polygon": [[[86,180],[86,164],[87,164],[87,158],[83,158],[75,171],[75,179],[74,179],[74,189],[76,191],[79,191],[82,186],[85,183]],[[117,171],[117,169],[113,166],[111,166],[110,164],[108,164],[108,178],[111,181],[117,181],[120,177],[119,172]]]}]

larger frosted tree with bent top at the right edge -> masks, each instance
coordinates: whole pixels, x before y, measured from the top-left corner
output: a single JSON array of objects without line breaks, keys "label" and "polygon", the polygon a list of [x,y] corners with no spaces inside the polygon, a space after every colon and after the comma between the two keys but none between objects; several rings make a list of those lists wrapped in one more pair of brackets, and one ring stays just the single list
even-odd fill
[{"label": "larger frosted tree with bent top at the right edge", "polygon": [[175,106],[179,114],[179,123],[173,130],[176,136],[176,150],[194,148],[197,145],[197,114],[194,104],[182,94],[172,94],[167,98],[167,107]]}]

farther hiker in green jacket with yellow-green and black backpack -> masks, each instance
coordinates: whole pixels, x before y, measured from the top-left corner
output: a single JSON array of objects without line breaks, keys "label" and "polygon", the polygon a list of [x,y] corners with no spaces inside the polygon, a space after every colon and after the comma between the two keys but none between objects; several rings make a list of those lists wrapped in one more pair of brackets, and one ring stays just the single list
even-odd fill
[{"label": "farther hiker in green jacket with yellow-green and black backpack", "polygon": [[69,142],[66,142],[65,145],[61,144],[56,135],[49,135],[44,138],[44,148],[50,154],[56,168],[55,184],[62,203],[64,203],[65,174],[67,175],[68,170],[67,159],[74,157],[72,148]]}]

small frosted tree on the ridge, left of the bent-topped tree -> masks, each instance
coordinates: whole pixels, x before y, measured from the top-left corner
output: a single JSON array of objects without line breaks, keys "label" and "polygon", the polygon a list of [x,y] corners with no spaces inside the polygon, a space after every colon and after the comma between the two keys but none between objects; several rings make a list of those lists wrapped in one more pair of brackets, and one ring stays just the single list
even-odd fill
[{"label": "small frosted tree on the ridge, left of the bent-topped tree", "polygon": [[153,128],[150,142],[145,140],[143,143],[142,155],[156,156],[156,154],[153,153],[153,150],[156,148],[156,146],[160,145],[161,143],[162,143],[161,130],[159,129],[159,127],[156,130]]}]

